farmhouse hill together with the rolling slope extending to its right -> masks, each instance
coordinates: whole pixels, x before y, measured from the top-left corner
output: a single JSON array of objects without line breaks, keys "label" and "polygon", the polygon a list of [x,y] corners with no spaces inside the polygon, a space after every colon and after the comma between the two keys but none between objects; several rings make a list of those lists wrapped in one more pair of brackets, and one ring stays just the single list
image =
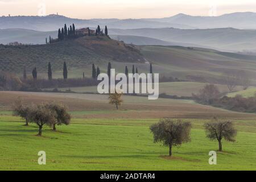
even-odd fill
[{"label": "farmhouse hill together with the rolling slope extending to its right", "polygon": [[64,42],[34,46],[0,46],[0,69],[28,73],[38,68],[41,77],[47,76],[47,63],[52,63],[53,77],[63,77],[63,61],[67,62],[69,77],[90,77],[92,63],[106,72],[108,62],[117,72],[129,71],[133,64],[139,72],[147,73],[149,64],[154,72],[183,80],[221,83],[228,71],[245,71],[256,84],[256,56],[220,52],[214,49],[181,46],[132,46],[106,37],[83,37]]}]

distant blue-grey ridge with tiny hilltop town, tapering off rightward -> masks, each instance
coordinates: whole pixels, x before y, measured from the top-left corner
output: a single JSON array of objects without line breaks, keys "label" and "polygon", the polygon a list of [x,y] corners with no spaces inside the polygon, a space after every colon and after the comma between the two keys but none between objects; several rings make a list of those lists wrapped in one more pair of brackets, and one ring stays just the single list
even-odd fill
[{"label": "distant blue-grey ridge with tiny hilltop town, tapering off rightward", "polygon": [[75,23],[77,28],[90,27],[96,28],[98,24],[101,27],[107,25],[109,28],[193,28],[179,23],[158,22],[144,19],[75,19],[61,15],[47,16],[1,16],[0,27],[23,28],[37,31],[56,31],[64,24]]}]

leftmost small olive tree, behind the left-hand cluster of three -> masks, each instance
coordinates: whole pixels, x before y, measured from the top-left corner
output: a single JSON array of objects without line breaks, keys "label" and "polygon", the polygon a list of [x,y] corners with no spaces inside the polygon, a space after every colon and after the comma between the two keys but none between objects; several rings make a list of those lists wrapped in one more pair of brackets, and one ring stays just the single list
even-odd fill
[{"label": "leftmost small olive tree, behind the left-hand cluster of three", "polygon": [[29,120],[29,113],[32,110],[32,105],[25,105],[23,104],[23,101],[18,98],[13,104],[13,115],[20,116],[23,119],[25,119],[26,124],[24,126],[28,126],[28,120]]}]

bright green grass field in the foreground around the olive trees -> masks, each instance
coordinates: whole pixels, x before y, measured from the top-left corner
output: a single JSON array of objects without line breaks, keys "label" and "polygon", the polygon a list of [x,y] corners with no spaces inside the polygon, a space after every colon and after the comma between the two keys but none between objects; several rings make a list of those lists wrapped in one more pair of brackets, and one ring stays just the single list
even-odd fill
[{"label": "bright green grass field in the foreground around the olive trees", "polygon": [[[1,170],[255,170],[256,126],[254,121],[237,121],[237,142],[224,142],[217,152],[217,165],[208,164],[209,151],[217,142],[205,138],[205,120],[191,121],[191,143],[168,147],[153,143],[149,126],[158,119],[72,119],[59,132],[44,127],[36,137],[36,125],[9,115],[0,115]],[[46,151],[47,164],[40,166],[37,155]]]}]

